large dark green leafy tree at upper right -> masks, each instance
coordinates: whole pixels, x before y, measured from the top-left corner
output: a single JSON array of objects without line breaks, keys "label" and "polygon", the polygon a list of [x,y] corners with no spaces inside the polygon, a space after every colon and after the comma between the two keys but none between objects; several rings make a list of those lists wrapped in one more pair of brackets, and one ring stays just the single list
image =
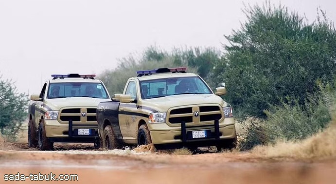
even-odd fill
[{"label": "large dark green leafy tree at upper right", "polygon": [[228,86],[227,100],[245,115],[265,118],[264,110],[285,97],[304,104],[317,79],[333,83],[336,31],[320,12],[323,18],[307,24],[284,6],[247,6],[248,21],[225,36],[226,55],[213,70]]}]

